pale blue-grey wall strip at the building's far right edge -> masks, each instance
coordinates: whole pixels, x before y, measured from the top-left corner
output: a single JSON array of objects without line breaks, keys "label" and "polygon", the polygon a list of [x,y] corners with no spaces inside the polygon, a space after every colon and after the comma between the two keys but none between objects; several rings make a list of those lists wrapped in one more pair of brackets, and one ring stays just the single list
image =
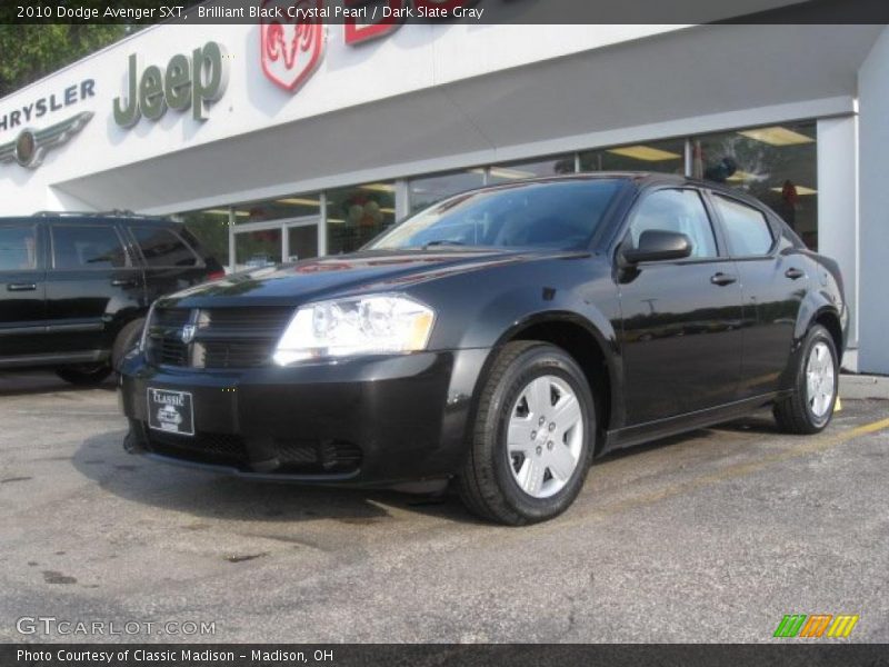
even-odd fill
[{"label": "pale blue-grey wall strip at the building's far right edge", "polygon": [[889,28],[858,70],[859,309],[858,367],[889,374]]}]

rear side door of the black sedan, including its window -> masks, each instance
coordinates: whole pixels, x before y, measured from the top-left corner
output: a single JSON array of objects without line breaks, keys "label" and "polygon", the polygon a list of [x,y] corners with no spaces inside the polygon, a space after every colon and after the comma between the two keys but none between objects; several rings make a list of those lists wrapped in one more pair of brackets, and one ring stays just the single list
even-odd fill
[{"label": "rear side door of the black sedan, including its window", "polygon": [[763,211],[721,192],[710,199],[738,267],[743,297],[741,398],[778,389],[790,358],[797,316],[809,288],[808,262]]}]

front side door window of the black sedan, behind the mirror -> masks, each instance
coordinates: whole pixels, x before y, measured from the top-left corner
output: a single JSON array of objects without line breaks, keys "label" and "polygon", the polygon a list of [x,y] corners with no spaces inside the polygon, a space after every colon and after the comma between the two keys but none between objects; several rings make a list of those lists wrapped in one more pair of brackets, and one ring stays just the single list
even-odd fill
[{"label": "front side door window of the black sedan, behind the mirror", "polygon": [[658,190],[646,197],[630,222],[632,247],[648,230],[675,231],[691,240],[691,257],[717,257],[716,236],[701,196],[696,190]]}]

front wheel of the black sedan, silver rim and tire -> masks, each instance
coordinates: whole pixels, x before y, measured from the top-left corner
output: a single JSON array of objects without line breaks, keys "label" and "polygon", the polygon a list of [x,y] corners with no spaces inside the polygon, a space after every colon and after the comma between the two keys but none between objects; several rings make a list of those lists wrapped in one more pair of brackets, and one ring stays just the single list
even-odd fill
[{"label": "front wheel of the black sedan, silver rim and tire", "polygon": [[548,344],[508,344],[482,389],[460,497],[500,524],[550,519],[580,492],[595,434],[592,395],[577,362]]}]

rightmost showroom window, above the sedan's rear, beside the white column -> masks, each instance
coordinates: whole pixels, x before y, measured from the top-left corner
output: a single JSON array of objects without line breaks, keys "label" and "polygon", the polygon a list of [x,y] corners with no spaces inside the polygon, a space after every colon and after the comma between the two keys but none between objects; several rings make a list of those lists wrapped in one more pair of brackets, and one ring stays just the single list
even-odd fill
[{"label": "rightmost showroom window, above the sedan's rear, beside the white column", "polygon": [[692,176],[752,195],[818,249],[815,121],[749,128],[692,139]]}]

